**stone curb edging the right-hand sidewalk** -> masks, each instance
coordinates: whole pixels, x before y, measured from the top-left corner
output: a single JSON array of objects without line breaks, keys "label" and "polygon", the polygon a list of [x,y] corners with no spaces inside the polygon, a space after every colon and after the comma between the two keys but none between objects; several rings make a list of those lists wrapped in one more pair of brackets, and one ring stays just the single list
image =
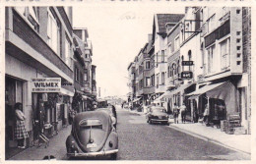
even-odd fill
[{"label": "stone curb edging the right-hand sidewalk", "polygon": [[216,139],[213,139],[213,138],[209,138],[209,137],[205,137],[205,136],[202,136],[202,135],[199,135],[199,134],[196,134],[196,133],[193,133],[193,132],[189,132],[189,131],[186,131],[184,129],[181,129],[181,128],[178,128],[178,127],[175,127],[175,126],[168,126],[169,128],[173,129],[173,130],[176,130],[176,131],[179,131],[181,133],[185,133],[187,135],[190,135],[192,137],[198,137],[198,138],[201,138],[203,140],[206,140],[206,141],[210,141],[212,143],[215,143],[215,144],[218,144],[218,145],[221,145],[221,146],[224,146],[225,148],[228,148],[228,149],[231,149],[231,150],[234,150],[234,151],[237,151],[237,152],[240,152],[240,153],[245,153],[247,155],[251,155],[251,152],[246,152],[246,151],[243,151],[243,150],[240,150],[240,149],[237,149],[237,148],[234,148],[234,147],[231,147],[227,144],[225,144],[224,142],[221,142],[219,140],[216,140]]}]

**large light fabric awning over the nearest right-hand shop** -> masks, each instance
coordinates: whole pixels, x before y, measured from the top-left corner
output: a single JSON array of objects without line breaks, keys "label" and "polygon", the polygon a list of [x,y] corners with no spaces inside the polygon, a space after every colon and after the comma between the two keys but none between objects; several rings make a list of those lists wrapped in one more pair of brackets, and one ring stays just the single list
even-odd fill
[{"label": "large light fabric awning over the nearest right-hand shop", "polygon": [[220,82],[205,85],[187,95],[191,96],[189,97],[189,99],[194,99],[204,93],[209,98],[224,100],[226,111],[228,114],[232,114],[238,111],[238,92],[232,82]]}]

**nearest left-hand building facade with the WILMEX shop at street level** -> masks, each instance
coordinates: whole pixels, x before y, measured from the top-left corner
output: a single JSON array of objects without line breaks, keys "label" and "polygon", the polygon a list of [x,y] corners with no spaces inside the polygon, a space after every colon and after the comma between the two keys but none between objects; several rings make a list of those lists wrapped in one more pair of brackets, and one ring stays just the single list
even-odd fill
[{"label": "nearest left-hand building facade with the WILMEX shop at street level", "polygon": [[[23,104],[27,117],[28,144],[38,138],[38,129],[58,131],[67,124],[66,116],[74,95],[71,13],[71,8],[63,7],[6,8],[7,147],[17,144],[13,136],[17,102]],[[58,88],[51,91],[47,86],[36,85],[36,82],[53,81],[58,83]],[[44,120],[39,119],[40,112],[44,113]],[[43,127],[34,123],[38,120]]]}]

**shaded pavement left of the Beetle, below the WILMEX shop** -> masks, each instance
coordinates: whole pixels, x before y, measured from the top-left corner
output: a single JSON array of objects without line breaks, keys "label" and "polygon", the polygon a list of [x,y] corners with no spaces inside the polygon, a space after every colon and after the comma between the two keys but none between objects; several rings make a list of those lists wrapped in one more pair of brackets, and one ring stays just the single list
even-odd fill
[{"label": "shaded pavement left of the Beetle, below the WILMEX shop", "polygon": [[33,146],[7,160],[42,160],[46,155],[53,155],[57,159],[65,157],[66,138],[71,133],[71,127],[63,128],[57,136],[51,137],[49,146],[46,148],[44,148],[44,144],[40,147]]}]

